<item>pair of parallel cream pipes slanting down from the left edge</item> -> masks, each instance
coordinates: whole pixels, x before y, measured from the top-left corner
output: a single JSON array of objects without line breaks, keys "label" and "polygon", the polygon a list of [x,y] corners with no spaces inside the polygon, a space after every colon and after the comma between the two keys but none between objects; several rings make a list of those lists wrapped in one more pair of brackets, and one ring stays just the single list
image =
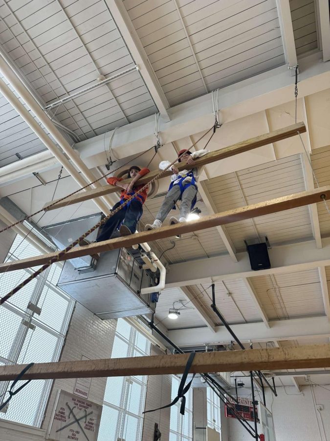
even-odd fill
[{"label": "pair of parallel cream pipes slanting down from the left edge", "polygon": [[[50,118],[44,113],[40,108],[37,101],[31,96],[26,87],[22,84],[16,74],[12,69],[6,64],[5,60],[0,57],[0,73],[7,79],[9,84],[16,90],[18,95],[22,98],[25,104],[32,110],[39,121],[48,130],[50,135],[55,139],[59,146],[63,149],[66,155],[71,159],[72,163],[77,166],[77,168],[82,172],[85,178],[92,182],[95,180],[94,175],[88,170],[84,162],[79,158],[77,153],[72,149],[69,143],[66,141],[65,137],[60,133],[60,131],[54,126]],[[31,127],[31,129],[36,133],[44,145],[53,153],[55,158],[60,164],[66,169],[66,171],[71,174],[73,179],[81,186],[85,187],[87,182],[80,176],[79,172],[70,164],[66,159],[66,156],[60,151],[59,148],[52,142],[52,140],[46,135],[42,127],[33,118],[30,112],[24,107],[21,101],[16,97],[16,95],[9,89],[5,82],[0,79],[0,92],[7,99],[7,101],[14,107],[14,109],[21,115],[23,120]],[[92,188],[100,187],[99,183],[91,185]],[[93,199],[97,207],[106,215],[109,214],[108,202],[105,203],[106,198],[102,196],[103,200]]]}]

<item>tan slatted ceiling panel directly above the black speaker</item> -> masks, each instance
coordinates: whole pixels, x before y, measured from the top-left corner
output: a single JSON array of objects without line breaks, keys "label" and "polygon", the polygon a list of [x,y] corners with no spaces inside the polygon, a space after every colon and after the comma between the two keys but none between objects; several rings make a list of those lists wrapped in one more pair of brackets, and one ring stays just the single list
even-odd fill
[{"label": "tan slatted ceiling panel directly above the black speaker", "polygon": [[[255,204],[305,190],[299,155],[276,162],[218,176],[207,181],[207,189],[217,211]],[[226,225],[236,249],[244,249],[244,239],[253,243],[267,235],[271,244],[292,243],[312,237],[308,207]]]}]

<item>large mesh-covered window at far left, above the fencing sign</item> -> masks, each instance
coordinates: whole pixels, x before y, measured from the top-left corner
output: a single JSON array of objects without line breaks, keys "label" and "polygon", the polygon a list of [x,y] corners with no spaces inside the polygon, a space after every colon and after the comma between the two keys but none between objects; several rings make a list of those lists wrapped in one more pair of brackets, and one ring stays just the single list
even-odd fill
[{"label": "large mesh-covered window at far left, above the fencing sign", "polygon": [[[36,248],[16,236],[6,261],[38,254],[41,253]],[[8,293],[32,272],[32,269],[26,269],[0,274],[2,293]],[[56,287],[60,274],[61,268],[52,265],[1,306],[1,364],[59,360],[74,306],[74,301]],[[11,382],[0,384],[0,395],[10,384]],[[22,392],[12,398],[7,412],[0,413],[0,417],[40,427],[51,384],[52,380],[31,381]],[[0,398],[0,403],[7,397],[6,393]]]}]

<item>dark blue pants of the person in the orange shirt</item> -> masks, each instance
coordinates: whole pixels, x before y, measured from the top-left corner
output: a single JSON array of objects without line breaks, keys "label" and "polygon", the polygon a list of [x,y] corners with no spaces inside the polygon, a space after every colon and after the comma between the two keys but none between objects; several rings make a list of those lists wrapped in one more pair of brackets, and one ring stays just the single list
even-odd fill
[{"label": "dark blue pants of the person in the orange shirt", "polygon": [[[119,207],[120,202],[117,202],[112,210]],[[118,211],[114,216],[111,216],[108,221],[103,225],[102,232],[96,239],[96,242],[107,241],[110,239],[113,231],[123,223],[126,225],[132,233],[136,231],[136,225],[143,213],[143,206],[139,200],[133,199],[128,207],[124,207]]]}]

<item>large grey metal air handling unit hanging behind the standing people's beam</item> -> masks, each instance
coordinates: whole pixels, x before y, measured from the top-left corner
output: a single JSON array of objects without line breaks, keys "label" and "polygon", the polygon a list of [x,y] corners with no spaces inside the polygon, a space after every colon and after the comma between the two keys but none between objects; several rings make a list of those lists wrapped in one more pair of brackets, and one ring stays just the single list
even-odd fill
[{"label": "large grey metal air handling unit hanging behind the standing people's beam", "polygon": [[[100,216],[93,216],[52,225],[45,231],[62,248],[99,220]],[[102,253],[97,264],[90,256],[71,259],[64,264],[58,287],[100,319],[150,314],[154,313],[151,292],[156,291],[152,287],[158,283],[159,271],[143,267],[140,251],[126,248]]]}]

